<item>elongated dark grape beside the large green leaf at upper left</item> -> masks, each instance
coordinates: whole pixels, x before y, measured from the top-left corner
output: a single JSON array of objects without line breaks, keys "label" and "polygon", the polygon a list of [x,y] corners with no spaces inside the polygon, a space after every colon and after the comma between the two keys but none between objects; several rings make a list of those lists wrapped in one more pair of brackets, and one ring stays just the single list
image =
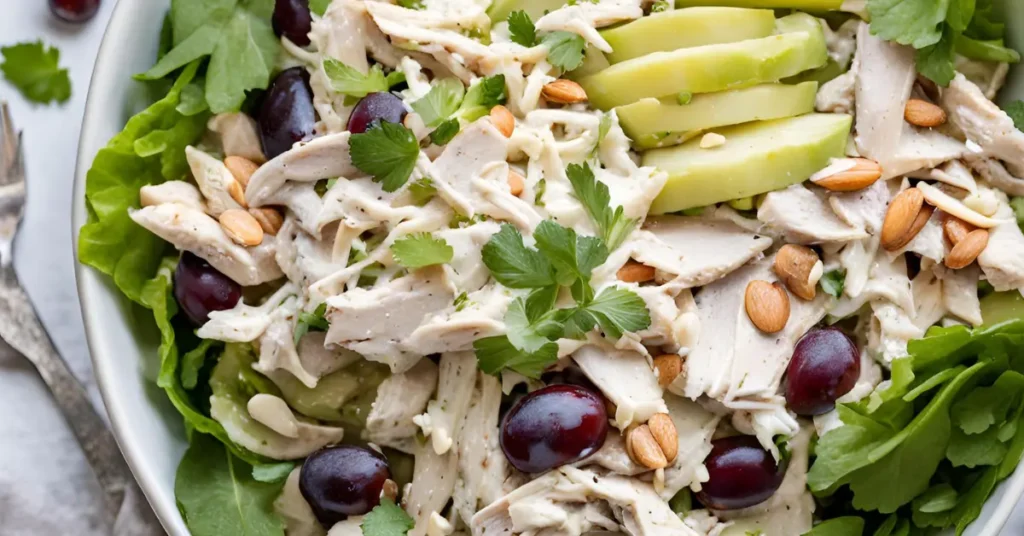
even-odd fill
[{"label": "elongated dark grape beside the large green leaf at upper left", "polygon": [[273,79],[263,96],[256,122],[267,159],[312,135],[316,112],[313,110],[313,91],[309,88],[309,73],[304,68],[293,67],[282,71]]}]

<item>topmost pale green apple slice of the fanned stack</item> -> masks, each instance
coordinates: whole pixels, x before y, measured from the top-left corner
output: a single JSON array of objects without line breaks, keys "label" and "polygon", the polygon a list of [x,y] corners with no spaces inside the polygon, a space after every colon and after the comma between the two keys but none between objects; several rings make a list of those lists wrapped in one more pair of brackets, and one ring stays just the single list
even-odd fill
[{"label": "topmost pale green apple slice of the fanned stack", "polygon": [[603,30],[601,37],[612,48],[608,60],[617,64],[663,50],[768,37],[774,31],[770,9],[693,7],[653,13]]}]

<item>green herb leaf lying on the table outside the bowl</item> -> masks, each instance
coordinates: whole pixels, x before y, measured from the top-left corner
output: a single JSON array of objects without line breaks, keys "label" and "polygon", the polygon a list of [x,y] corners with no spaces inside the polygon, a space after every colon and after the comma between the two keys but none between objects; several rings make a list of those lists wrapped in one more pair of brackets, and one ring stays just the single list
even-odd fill
[{"label": "green herb leaf lying on the table outside the bowl", "polygon": [[44,47],[42,41],[0,48],[0,72],[26,98],[33,102],[65,102],[71,98],[68,70],[60,69],[60,51]]}]

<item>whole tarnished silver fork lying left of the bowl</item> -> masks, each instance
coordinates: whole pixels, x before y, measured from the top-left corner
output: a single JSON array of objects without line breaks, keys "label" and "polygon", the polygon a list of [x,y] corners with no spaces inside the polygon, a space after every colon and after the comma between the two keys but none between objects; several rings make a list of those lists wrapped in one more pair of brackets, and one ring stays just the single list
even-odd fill
[{"label": "whole tarnished silver fork lying left of the bowl", "polygon": [[164,534],[118,444],[68,369],[14,273],[13,244],[25,211],[20,134],[0,101],[0,338],[28,358],[53,394],[103,490],[106,519],[116,535]]}]

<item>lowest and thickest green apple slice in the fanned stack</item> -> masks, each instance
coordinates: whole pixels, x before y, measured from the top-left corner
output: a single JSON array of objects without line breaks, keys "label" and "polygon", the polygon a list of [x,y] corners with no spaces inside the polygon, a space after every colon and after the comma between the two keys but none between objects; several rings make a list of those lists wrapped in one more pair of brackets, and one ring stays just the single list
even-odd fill
[{"label": "lowest and thickest green apple slice in the fanned stack", "polygon": [[853,118],[846,114],[746,123],[715,131],[725,143],[700,149],[700,139],[648,151],[643,165],[669,173],[651,214],[676,212],[803,182],[846,154]]}]

